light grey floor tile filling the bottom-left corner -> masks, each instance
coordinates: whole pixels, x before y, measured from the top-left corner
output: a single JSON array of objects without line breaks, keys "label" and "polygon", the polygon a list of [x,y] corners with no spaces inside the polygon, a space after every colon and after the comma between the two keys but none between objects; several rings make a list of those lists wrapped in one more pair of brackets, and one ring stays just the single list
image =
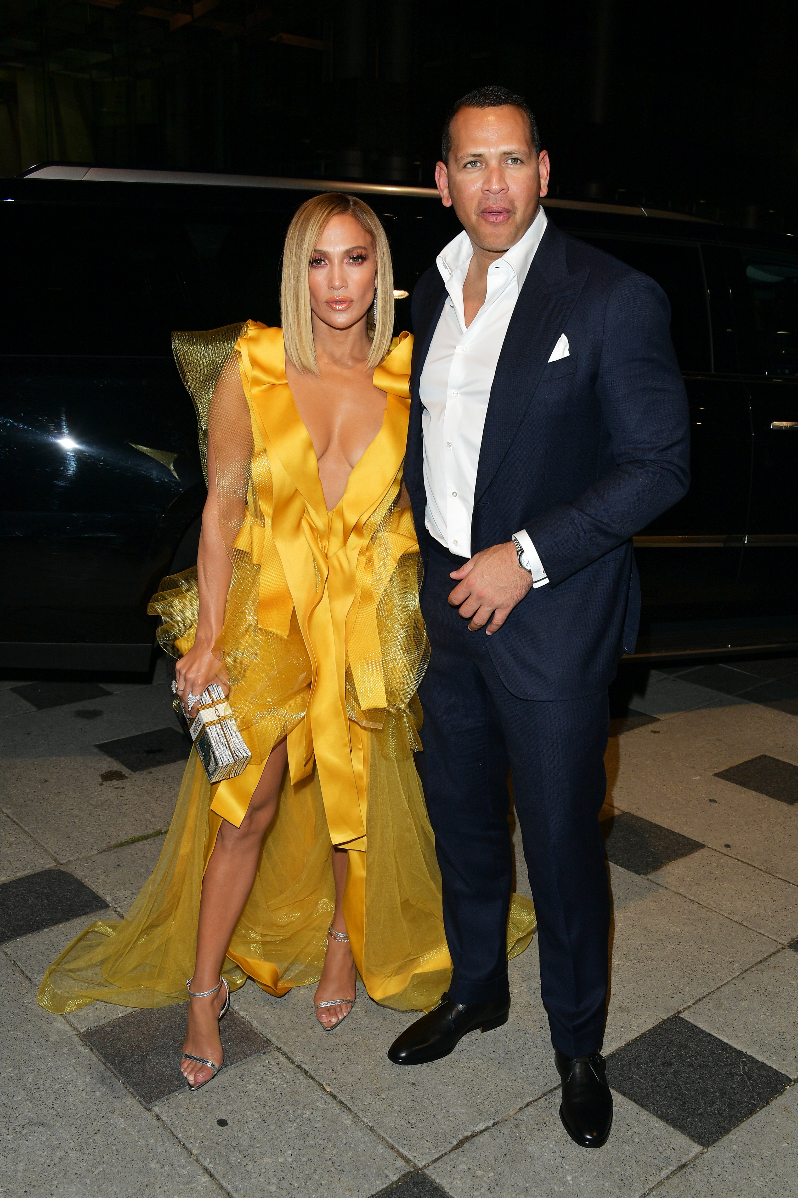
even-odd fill
[{"label": "light grey floor tile filling the bottom-left corner", "polygon": [[223,1191],[0,957],[5,1198],[188,1198]]}]

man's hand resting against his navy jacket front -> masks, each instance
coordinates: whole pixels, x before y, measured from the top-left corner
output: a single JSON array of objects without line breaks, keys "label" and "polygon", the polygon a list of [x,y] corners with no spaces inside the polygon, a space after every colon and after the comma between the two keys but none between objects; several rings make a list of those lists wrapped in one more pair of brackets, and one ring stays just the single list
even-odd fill
[{"label": "man's hand resting against his navy jacket front", "polygon": [[449,595],[450,604],[459,607],[461,616],[470,622],[471,633],[491,621],[486,629],[488,636],[501,628],[532,585],[531,574],[518,564],[511,540],[480,550],[449,576],[458,580]]}]

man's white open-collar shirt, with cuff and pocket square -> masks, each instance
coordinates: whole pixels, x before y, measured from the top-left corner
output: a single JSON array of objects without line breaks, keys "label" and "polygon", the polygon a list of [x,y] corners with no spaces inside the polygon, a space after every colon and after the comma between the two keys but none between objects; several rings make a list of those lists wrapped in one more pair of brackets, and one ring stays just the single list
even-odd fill
[{"label": "man's white open-collar shirt, with cuff and pocket square", "polygon": [[[468,234],[463,231],[455,237],[437,259],[449,298],[419,386],[427,492],[425,524],[431,536],[458,557],[471,556],[474,489],[493,376],[546,223],[546,212],[540,207],[520,241],[489,266],[485,303],[468,328],[463,284],[474,254]],[[567,355],[564,334],[552,358]],[[531,567],[532,586],[546,586],[548,577],[529,533],[520,528],[516,537]]]}]

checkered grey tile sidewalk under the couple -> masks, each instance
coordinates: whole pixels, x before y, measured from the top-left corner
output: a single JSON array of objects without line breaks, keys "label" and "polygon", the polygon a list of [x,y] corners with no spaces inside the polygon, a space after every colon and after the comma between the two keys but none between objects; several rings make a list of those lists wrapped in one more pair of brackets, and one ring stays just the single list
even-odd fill
[{"label": "checkered grey tile sidewalk under the couple", "polygon": [[[412,1017],[363,991],[328,1036],[310,992],[248,984],[195,1095],[182,1005],[36,1006],[49,961],[157,860],[188,749],[169,698],[163,666],[151,685],[0,684],[0,1193],[794,1196],[797,658],[625,668],[614,688],[616,1114],[596,1152],[558,1119],[534,945],[506,1028],[415,1070],[385,1058]],[[518,852],[517,871],[529,893]]]}]

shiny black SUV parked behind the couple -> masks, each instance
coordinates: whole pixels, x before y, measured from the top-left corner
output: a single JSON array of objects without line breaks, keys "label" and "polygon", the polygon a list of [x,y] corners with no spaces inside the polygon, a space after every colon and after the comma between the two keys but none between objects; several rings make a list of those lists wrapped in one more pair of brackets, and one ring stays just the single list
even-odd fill
[{"label": "shiny black SUV parked behind the couple", "polygon": [[[279,323],[282,238],[349,190],[391,242],[397,328],[458,231],[434,190],[74,165],[0,183],[5,668],[147,670],[163,575],[196,561],[205,497],[172,329]],[[638,657],[798,645],[798,247],[669,212],[546,200],[665,290],[693,483],[635,537]]]}]

